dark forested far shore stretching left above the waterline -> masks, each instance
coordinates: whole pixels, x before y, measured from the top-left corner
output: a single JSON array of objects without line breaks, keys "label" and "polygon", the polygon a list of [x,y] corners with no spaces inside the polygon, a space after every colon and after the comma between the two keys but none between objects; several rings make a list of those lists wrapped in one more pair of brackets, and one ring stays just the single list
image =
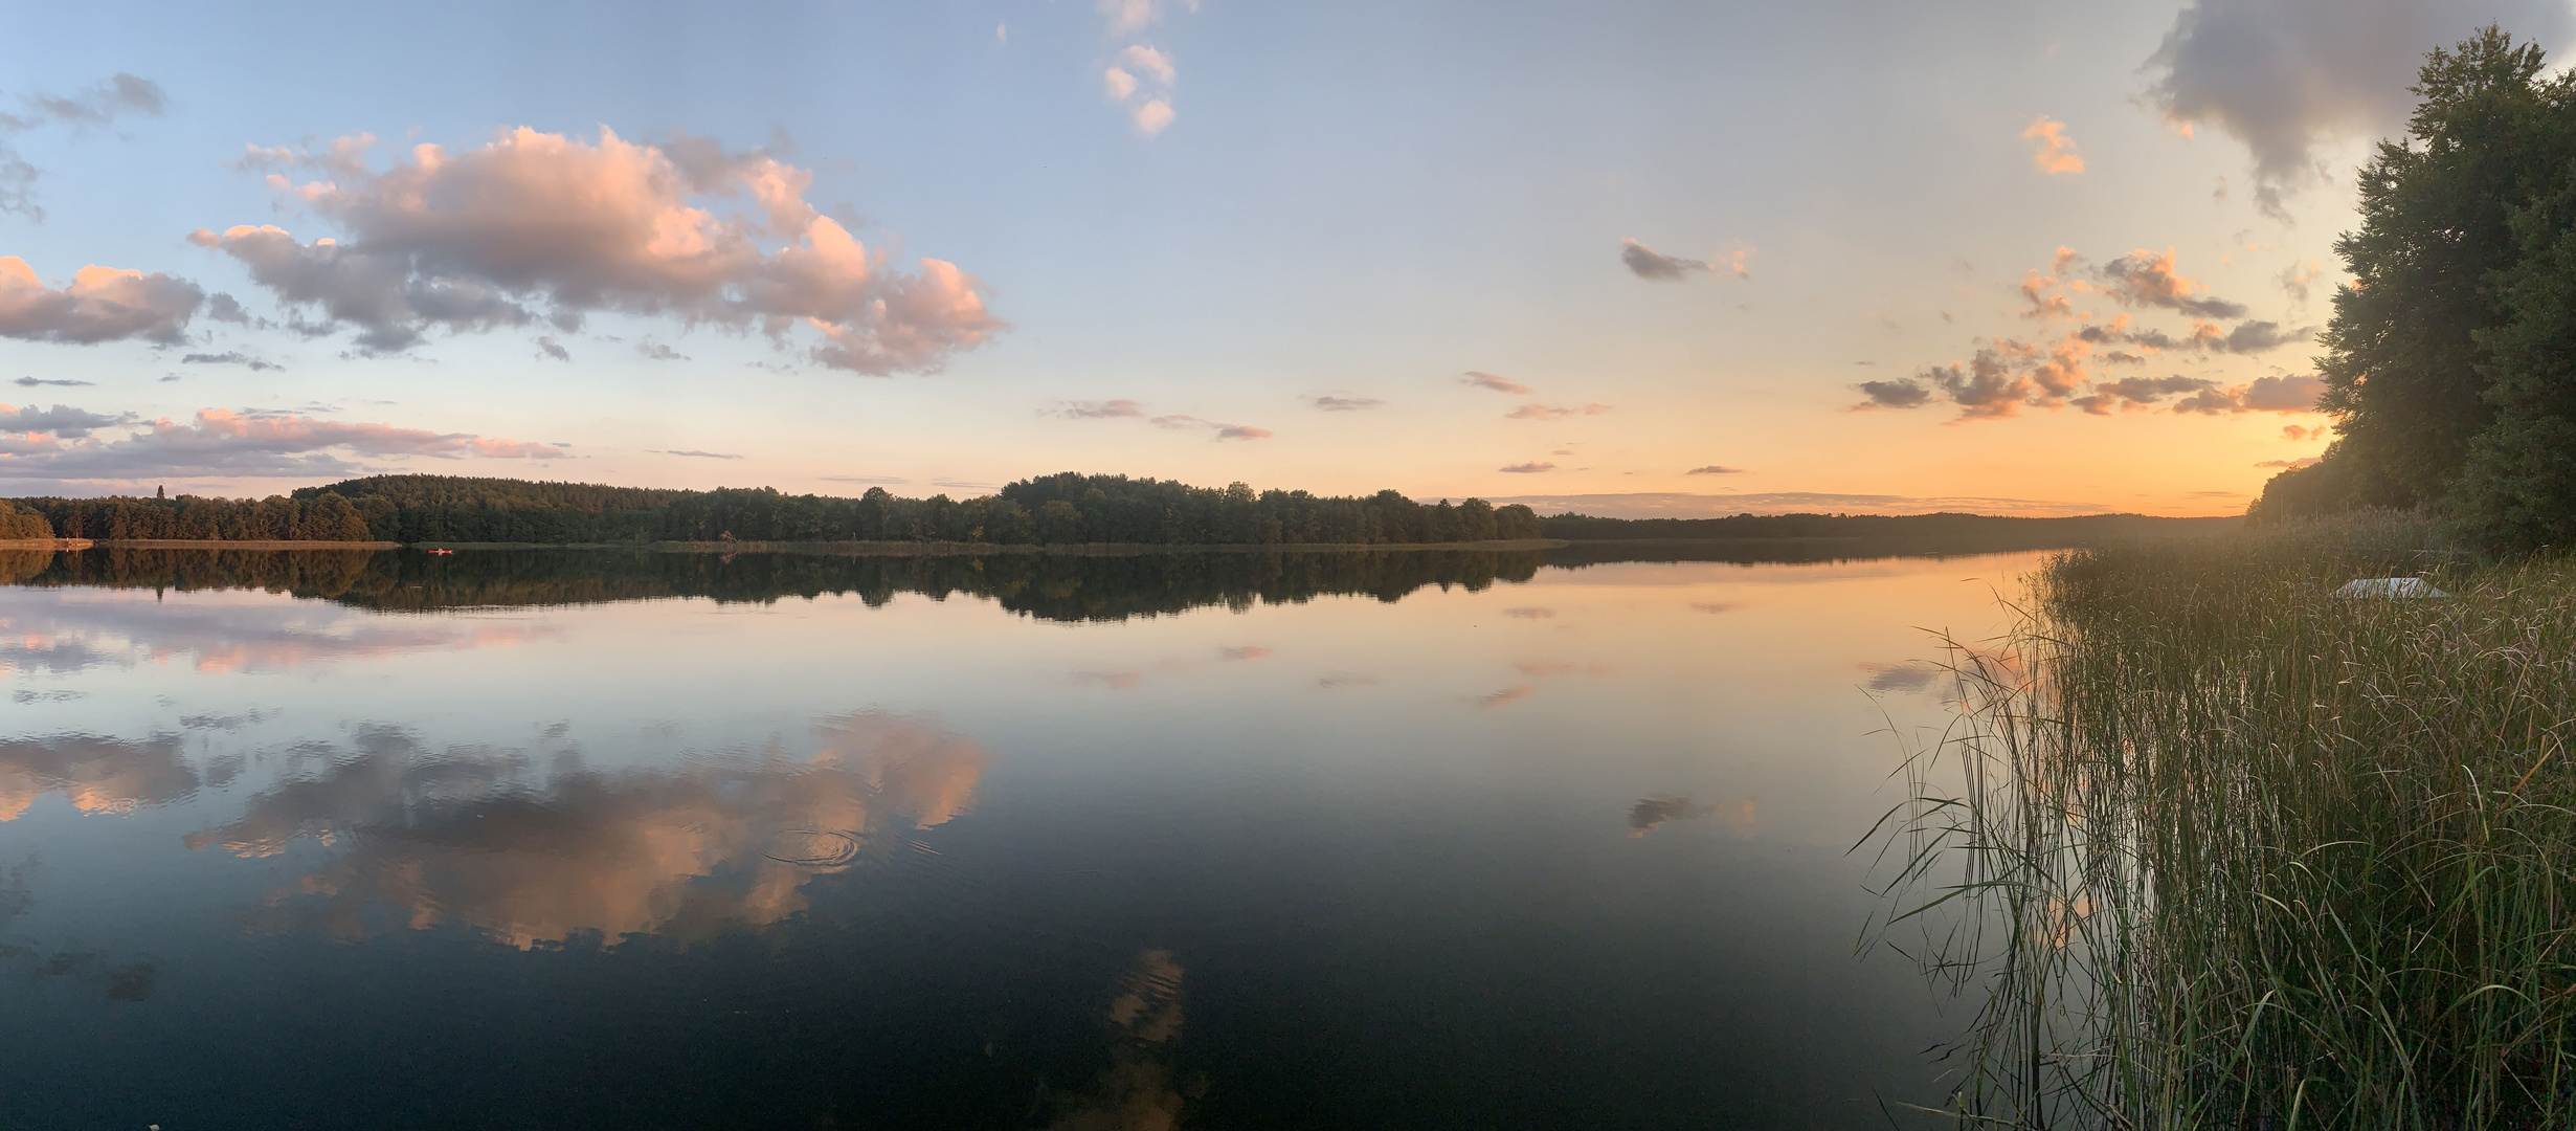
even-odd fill
[{"label": "dark forested far shore stretching left above the waterline", "polygon": [[[139,541],[943,541],[943,544],[1455,544],[1538,538],[1538,515],[1484,500],[1417,502],[1190,487],[1123,474],[1051,474],[997,495],[786,495],[773,487],[649,489],[569,482],[397,474],[304,487],[265,500],[98,497],[18,500],[57,538]],[[0,523],[8,515],[0,513]],[[0,526],[5,528],[5,526]],[[28,533],[46,536],[46,533]]]}]

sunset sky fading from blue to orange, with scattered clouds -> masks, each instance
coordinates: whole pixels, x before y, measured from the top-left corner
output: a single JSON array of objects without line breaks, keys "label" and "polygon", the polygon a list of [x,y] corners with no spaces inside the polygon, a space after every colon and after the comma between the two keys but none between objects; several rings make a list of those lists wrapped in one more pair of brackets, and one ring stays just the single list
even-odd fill
[{"label": "sunset sky fading from blue to orange, with scattered clouds", "polygon": [[23,5],[0,495],[2239,513],[2566,0]]}]

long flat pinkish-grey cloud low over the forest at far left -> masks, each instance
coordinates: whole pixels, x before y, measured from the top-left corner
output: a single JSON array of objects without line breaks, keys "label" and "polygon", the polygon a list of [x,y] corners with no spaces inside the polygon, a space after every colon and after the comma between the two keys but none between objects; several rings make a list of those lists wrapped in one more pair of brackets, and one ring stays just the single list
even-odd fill
[{"label": "long flat pinkish-grey cloud low over the forest at far left", "polygon": [[[52,412],[77,412],[54,407]],[[21,420],[26,412],[21,412]],[[5,417],[0,417],[5,420]],[[0,479],[160,479],[160,477],[327,477],[355,474],[361,459],[564,459],[554,443],[526,443],[471,433],[319,420],[294,412],[198,410],[191,423],[131,415],[72,417],[77,430],[46,441],[0,446]],[[90,435],[129,428],[124,438]],[[28,428],[41,430],[41,428]]]}]

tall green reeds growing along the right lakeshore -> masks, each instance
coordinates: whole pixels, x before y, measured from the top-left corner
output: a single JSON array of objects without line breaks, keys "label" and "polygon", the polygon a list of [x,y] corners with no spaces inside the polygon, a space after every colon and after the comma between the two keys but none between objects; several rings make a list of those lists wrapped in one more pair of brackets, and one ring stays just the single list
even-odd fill
[{"label": "tall green reeds growing along the right lakeshore", "polygon": [[2434,544],[2069,551],[1953,642],[1878,938],[1981,994],[1963,1123],[2576,1126],[2576,564]]}]

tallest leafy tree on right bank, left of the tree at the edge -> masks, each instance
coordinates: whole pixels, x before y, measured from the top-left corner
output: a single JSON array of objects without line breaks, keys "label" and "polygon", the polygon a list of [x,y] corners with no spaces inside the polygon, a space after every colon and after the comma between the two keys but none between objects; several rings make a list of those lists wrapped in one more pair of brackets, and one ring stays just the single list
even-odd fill
[{"label": "tallest leafy tree on right bank, left of the tree at the edge", "polygon": [[2360,175],[2362,227],[2334,245],[2354,281],[2318,358],[2342,433],[2329,461],[2347,466],[2285,477],[2344,492],[2329,505],[2442,502],[2496,423],[2483,343],[2512,317],[2496,281],[2530,250],[2514,216],[2576,157],[2576,88],[2540,67],[2535,44],[2494,26],[2434,49],[2406,137]]}]

